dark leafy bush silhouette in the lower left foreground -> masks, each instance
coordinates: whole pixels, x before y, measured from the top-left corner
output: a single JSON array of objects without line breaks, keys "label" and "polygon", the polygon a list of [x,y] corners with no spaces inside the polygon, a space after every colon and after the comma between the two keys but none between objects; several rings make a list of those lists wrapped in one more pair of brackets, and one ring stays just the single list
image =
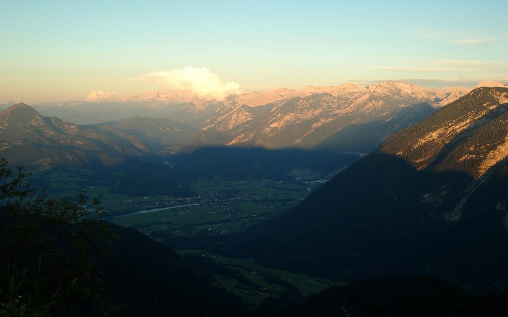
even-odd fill
[{"label": "dark leafy bush silhouette in the lower left foreground", "polygon": [[3,157],[0,179],[0,316],[118,314],[100,278],[111,236],[98,201],[36,194]]}]

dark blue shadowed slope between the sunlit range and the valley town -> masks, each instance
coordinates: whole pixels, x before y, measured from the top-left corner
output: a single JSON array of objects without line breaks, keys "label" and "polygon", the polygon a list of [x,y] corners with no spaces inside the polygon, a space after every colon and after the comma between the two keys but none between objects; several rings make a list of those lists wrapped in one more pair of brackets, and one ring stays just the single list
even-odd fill
[{"label": "dark blue shadowed slope between the sunlit range and the valley town", "polygon": [[357,161],[355,153],[268,150],[261,147],[203,147],[168,159],[193,178],[216,175],[235,180],[330,178],[341,168]]}]

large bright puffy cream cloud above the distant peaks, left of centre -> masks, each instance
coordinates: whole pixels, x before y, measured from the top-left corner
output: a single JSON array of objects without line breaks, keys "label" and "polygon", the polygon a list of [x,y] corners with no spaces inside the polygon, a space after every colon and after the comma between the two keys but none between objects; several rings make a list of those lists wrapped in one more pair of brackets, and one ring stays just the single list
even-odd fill
[{"label": "large bright puffy cream cloud above the distant peaks, left of centre", "polygon": [[238,83],[225,82],[206,67],[187,66],[169,72],[152,72],[136,80],[166,86],[171,90],[188,89],[195,94],[218,100],[224,99],[229,94],[240,92]]}]

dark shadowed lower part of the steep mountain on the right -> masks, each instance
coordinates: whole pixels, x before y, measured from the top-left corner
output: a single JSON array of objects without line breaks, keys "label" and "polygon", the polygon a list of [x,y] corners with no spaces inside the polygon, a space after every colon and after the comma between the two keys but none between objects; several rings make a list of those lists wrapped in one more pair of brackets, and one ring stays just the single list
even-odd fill
[{"label": "dark shadowed lower part of the steep mountain on the right", "polygon": [[[340,281],[436,275],[489,289],[505,283],[508,181],[482,184],[449,221],[474,180],[456,172],[417,170],[374,152],[354,163],[285,214],[246,233],[217,238],[156,236],[176,249],[200,249]],[[485,203],[488,201],[487,203]],[[480,202],[480,203],[478,203]]]}]

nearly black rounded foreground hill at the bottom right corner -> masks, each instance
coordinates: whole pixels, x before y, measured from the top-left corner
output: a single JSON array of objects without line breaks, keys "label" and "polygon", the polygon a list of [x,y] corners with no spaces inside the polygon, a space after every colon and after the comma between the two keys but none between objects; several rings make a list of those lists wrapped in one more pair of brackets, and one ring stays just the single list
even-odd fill
[{"label": "nearly black rounded foreground hill at the bottom right corner", "polygon": [[354,281],[270,316],[504,316],[506,296],[478,296],[430,276]]}]

